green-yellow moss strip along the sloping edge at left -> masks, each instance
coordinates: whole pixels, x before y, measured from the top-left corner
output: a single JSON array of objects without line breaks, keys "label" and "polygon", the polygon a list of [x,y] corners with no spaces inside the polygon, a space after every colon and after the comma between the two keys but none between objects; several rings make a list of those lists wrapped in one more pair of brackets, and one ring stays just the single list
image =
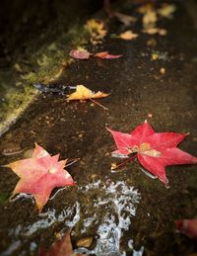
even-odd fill
[{"label": "green-yellow moss strip along the sloping edge at left", "polygon": [[10,84],[14,86],[7,89],[0,106],[0,135],[17,121],[39,95],[33,84],[55,82],[64,68],[73,61],[69,57],[70,49],[85,45],[88,37],[84,26],[74,26],[53,43],[44,43],[37,51],[29,52],[25,62],[18,58],[12,70],[4,73],[5,79],[2,79],[1,83],[6,84],[6,88],[9,88]]}]

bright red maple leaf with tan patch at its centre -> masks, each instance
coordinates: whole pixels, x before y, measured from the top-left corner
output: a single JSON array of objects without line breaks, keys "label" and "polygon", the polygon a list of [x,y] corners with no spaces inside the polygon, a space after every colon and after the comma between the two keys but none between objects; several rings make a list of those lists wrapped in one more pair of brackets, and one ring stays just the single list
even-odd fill
[{"label": "bright red maple leaf with tan patch at its centre", "polygon": [[196,157],[176,147],[188,135],[187,133],[158,133],[147,121],[130,134],[107,129],[117,146],[117,150],[111,153],[112,156],[127,158],[130,154],[137,153],[142,166],[159,178],[166,187],[168,181],[165,176],[165,166],[197,163]]}]

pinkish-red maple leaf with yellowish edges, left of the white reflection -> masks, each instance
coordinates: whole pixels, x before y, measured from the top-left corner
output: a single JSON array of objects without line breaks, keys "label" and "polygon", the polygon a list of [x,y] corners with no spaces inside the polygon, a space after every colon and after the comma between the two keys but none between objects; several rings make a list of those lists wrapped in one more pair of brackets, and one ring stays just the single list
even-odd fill
[{"label": "pinkish-red maple leaf with yellowish edges, left of the white reflection", "polygon": [[71,175],[64,170],[67,160],[58,161],[59,154],[50,156],[35,143],[33,157],[6,165],[21,179],[12,194],[32,194],[39,213],[56,187],[75,185]]}]

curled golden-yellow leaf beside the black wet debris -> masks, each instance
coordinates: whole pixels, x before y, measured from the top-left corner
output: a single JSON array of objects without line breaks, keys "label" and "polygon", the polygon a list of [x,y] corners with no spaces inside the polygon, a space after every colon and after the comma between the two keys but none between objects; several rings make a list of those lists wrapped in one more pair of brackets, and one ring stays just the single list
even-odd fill
[{"label": "curled golden-yellow leaf beside the black wet debris", "polygon": [[70,94],[68,96],[67,100],[68,101],[73,101],[73,100],[86,101],[86,100],[91,100],[91,99],[105,98],[108,95],[109,94],[102,93],[100,91],[97,93],[94,93],[93,91],[91,91],[84,85],[77,85],[76,92]]}]

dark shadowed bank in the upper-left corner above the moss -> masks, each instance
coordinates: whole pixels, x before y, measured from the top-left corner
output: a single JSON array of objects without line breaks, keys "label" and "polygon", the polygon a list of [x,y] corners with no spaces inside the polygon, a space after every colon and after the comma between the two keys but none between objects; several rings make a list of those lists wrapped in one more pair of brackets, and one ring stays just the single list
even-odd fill
[{"label": "dark shadowed bank in the upper-left corner above the moss", "polygon": [[19,54],[27,61],[27,55],[33,54],[38,45],[53,42],[70,25],[83,21],[101,6],[100,0],[3,0],[0,8],[0,67],[15,63]]}]

